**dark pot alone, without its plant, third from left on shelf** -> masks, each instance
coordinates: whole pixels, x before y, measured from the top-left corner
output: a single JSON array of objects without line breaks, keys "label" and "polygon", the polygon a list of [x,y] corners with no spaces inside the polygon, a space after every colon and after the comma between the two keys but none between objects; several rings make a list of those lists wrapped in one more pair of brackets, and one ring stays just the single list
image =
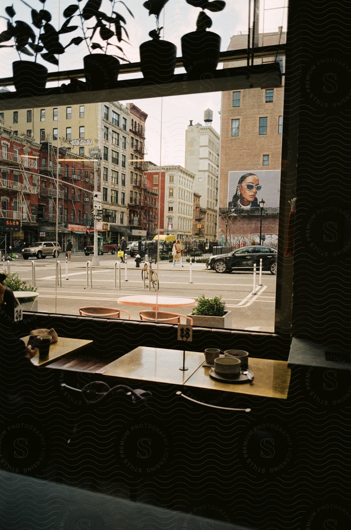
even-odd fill
[{"label": "dark pot alone, without its plant, third from left on shelf", "polygon": [[147,81],[172,81],[177,59],[177,47],[167,40],[152,39],[140,47],[140,69]]}]

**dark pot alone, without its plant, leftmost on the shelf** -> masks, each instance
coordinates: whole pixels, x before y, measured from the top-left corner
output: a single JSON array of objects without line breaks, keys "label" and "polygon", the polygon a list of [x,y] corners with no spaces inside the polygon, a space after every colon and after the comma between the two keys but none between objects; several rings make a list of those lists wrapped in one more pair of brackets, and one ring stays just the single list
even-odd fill
[{"label": "dark pot alone, without its plant, leftmost on the shelf", "polygon": [[48,80],[48,69],[31,61],[14,61],[12,63],[13,84],[22,94],[38,94],[45,90]]}]

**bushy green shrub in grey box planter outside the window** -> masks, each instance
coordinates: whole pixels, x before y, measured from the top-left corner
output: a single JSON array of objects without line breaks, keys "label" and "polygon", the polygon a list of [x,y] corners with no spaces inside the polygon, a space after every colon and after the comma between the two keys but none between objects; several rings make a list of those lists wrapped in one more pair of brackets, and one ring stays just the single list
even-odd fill
[{"label": "bushy green shrub in grey box planter outside the window", "polygon": [[205,295],[196,298],[196,305],[190,315],[194,326],[206,328],[231,328],[231,311],[227,311],[226,303],[221,296],[205,298]]}]

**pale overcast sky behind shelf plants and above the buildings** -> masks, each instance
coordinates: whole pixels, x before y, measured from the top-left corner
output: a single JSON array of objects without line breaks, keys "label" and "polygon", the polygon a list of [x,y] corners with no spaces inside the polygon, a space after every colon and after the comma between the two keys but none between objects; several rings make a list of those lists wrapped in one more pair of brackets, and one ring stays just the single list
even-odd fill
[{"label": "pale overcast sky behind shelf plants and above the buildings", "polygon": [[[59,28],[64,22],[62,12],[71,4],[75,4],[77,0],[47,0],[45,7],[52,15],[51,23],[55,28]],[[42,3],[39,0],[26,0],[33,8],[40,10]],[[127,22],[126,28],[129,33],[129,43],[122,43],[125,55],[131,63],[140,60],[139,45],[141,42],[149,40],[148,33],[155,29],[155,16],[148,15],[148,11],[143,7],[145,0],[125,0],[134,19],[129,15],[122,3],[115,4],[115,11],[121,13]],[[265,22],[264,31],[277,31],[278,26],[285,26],[286,9],[282,10],[278,7],[287,4],[287,0],[261,0],[261,12],[265,8]],[[30,9],[23,5],[20,0],[2,0],[0,5],[0,15],[5,15],[5,7],[13,3],[14,10],[17,13],[16,19],[30,20]],[[80,2],[80,6],[84,7],[86,0]],[[110,14],[112,3],[110,0],[102,0],[101,10]],[[60,12],[59,12],[60,10]],[[196,29],[196,18],[200,10],[187,4],[185,0],[168,0],[164,13],[161,13],[160,23],[164,26],[164,38],[170,40],[177,46],[177,56],[181,56],[181,37],[188,31]],[[227,5],[223,11],[219,13],[210,13],[212,19],[211,31],[217,32],[222,38],[221,49],[226,50],[230,37],[242,31],[247,33],[247,17],[248,17],[248,0],[228,0]],[[74,18],[71,25],[78,25],[78,19]],[[91,25],[91,24],[90,24]],[[0,29],[6,27],[4,19],[0,19]],[[263,16],[260,17],[260,32],[263,31]],[[65,45],[73,37],[80,34],[76,32],[69,33],[62,36],[61,42]],[[0,60],[0,77],[12,76],[12,62],[18,59],[17,52],[12,48],[2,48]],[[59,56],[60,64],[56,66],[50,65],[46,61],[42,61],[49,70],[65,70],[74,68],[83,68],[83,57],[87,54],[87,47],[85,43],[68,48],[64,55]],[[26,57],[22,56],[23,59]],[[181,72],[181,70],[177,70]],[[220,93],[206,93],[187,96],[174,96],[163,99],[163,117],[161,125],[161,100],[133,100],[133,102],[143,111],[148,113],[146,122],[146,160],[151,160],[156,164],[160,162],[160,135],[162,129],[162,146],[161,146],[161,164],[179,164],[184,165],[184,145],[185,145],[185,129],[190,120],[193,123],[204,123],[203,111],[207,108],[213,110],[212,126],[218,132],[220,131]],[[125,102],[124,102],[125,103]]]}]

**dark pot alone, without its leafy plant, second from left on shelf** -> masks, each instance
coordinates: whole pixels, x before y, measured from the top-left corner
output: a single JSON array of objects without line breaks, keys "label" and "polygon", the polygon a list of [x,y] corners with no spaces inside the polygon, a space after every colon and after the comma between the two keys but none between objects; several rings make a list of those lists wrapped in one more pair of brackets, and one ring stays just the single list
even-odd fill
[{"label": "dark pot alone, without its leafy plant, second from left on shelf", "polygon": [[91,54],[83,58],[89,90],[112,89],[120,73],[120,61],[112,55]]}]

